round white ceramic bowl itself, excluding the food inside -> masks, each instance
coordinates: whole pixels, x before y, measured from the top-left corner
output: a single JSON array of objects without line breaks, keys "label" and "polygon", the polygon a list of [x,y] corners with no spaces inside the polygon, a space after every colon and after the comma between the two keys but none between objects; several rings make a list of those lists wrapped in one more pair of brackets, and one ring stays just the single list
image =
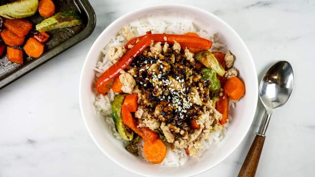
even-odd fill
[{"label": "round white ceramic bowl itself, excluding the food inside", "polygon": [[[157,13],[174,16],[178,20],[190,18],[201,29],[211,28],[218,31],[222,42],[236,56],[234,66],[240,71],[241,79],[246,85],[245,96],[237,102],[236,108],[230,112],[233,120],[228,127],[227,135],[220,143],[205,151],[200,158],[189,158],[182,167],[152,165],[141,159],[141,157],[131,155],[119,140],[108,133],[108,126],[104,118],[95,113],[93,105],[95,98],[95,71],[93,68],[102,57],[101,49],[119,29],[131,21]],[[118,18],[110,24],[98,36],[85,59],[79,89],[82,117],[98,148],[121,167],[147,177],[189,177],[205,172],[222,162],[239,146],[248,132],[255,114],[258,98],[256,69],[252,56],[240,36],[217,16],[196,7],[180,4],[157,4],[143,7]]]}]

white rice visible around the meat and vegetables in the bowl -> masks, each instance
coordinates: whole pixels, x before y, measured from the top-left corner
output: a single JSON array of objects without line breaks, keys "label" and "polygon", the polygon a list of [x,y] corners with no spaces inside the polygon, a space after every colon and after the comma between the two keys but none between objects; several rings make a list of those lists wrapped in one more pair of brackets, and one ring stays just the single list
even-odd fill
[{"label": "white rice visible around the meat and vegetables in the bowl", "polygon": [[[152,31],[152,33],[167,33],[167,34],[184,34],[187,32],[196,32],[201,37],[209,39],[213,42],[212,47],[210,50],[212,51],[221,51],[225,52],[226,48],[225,45],[222,44],[219,40],[219,36],[217,33],[210,34],[205,30],[200,30],[197,28],[195,24],[191,21],[184,20],[182,22],[168,22],[166,20],[162,20],[161,18],[146,18],[146,19],[139,19],[138,21],[131,22],[125,28],[129,29],[133,36],[140,36],[144,35],[146,31]],[[103,59],[96,63],[95,71],[96,77],[99,77],[105,70],[107,70],[112,64],[116,61],[111,61],[108,59],[106,55],[108,52],[109,47],[112,46],[124,46],[127,42],[127,39],[123,36],[123,29],[121,29],[116,36],[112,37],[112,39],[108,42],[108,44],[102,50],[104,55]],[[120,135],[117,133],[115,129],[115,125],[113,119],[111,118],[111,105],[110,102],[113,101],[115,93],[112,89],[108,91],[108,93],[104,95],[96,95],[95,96],[95,107],[96,112],[98,114],[102,114],[105,117],[105,121],[108,123],[109,131],[114,135],[115,138],[121,139]],[[230,108],[234,108],[235,103],[230,101]],[[232,118],[229,116],[228,122],[224,125],[224,128],[221,130],[217,130],[210,134],[209,139],[203,141],[202,144],[204,145],[203,150],[208,149],[213,143],[218,143],[224,137],[226,133],[226,127],[228,126],[229,122]],[[124,140],[122,140],[124,141]],[[124,142],[126,143],[126,142]],[[139,142],[139,150],[142,153],[142,146],[143,141]],[[144,156],[143,156],[144,157]],[[145,158],[144,158],[145,159]],[[189,156],[186,154],[184,149],[175,149],[171,150],[170,147],[167,148],[167,154],[161,165],[167,166],[182,166],[185,162],[189,159]]]}]

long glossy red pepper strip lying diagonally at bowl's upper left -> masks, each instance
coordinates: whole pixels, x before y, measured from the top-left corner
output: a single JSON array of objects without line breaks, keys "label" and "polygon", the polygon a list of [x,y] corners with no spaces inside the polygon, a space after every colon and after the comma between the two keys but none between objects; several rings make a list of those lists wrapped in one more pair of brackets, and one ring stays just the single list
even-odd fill
[{"label": "long glossy red pepper strip lying diagonally at bowl's upper left", "polygon": [[97,80],[96,91],[99,94],[106,94],[110,89],[108,86],[114,78],[119,74],[119,72],[125,69],[135,57],[140,55],[145,48],[147,48],[152,43],[150,37],[143,37],[138,43],[136,43],[126,54],[117,61],[114,65],[109,67]]}]

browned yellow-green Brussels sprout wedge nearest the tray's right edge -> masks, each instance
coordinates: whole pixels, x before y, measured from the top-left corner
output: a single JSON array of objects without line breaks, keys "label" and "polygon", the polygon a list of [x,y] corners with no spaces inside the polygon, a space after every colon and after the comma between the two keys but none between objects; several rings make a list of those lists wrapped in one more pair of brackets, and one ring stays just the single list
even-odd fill
[{"label": "browned yellow-green Brussels sprout wedge nearest the tray's right edge", "polygon": [[36,25],[38,31],[49,31],[81,25],[80,17],[74,11],[56,13],[54,16],[43,20]]}]

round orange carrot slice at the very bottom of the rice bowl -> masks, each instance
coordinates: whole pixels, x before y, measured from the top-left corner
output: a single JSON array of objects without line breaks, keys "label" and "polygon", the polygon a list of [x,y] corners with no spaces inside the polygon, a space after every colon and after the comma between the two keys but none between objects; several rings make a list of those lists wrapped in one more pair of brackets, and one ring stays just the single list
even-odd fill
[{"label": "round orange carrot slice at the very bottom of the rice bowl", "polygon": [[153,164],[161,163],[166,156],[166,147],[164,143],[158,139],[154,142],[145,141],[143,145],[143,154],[148,161]]}]

